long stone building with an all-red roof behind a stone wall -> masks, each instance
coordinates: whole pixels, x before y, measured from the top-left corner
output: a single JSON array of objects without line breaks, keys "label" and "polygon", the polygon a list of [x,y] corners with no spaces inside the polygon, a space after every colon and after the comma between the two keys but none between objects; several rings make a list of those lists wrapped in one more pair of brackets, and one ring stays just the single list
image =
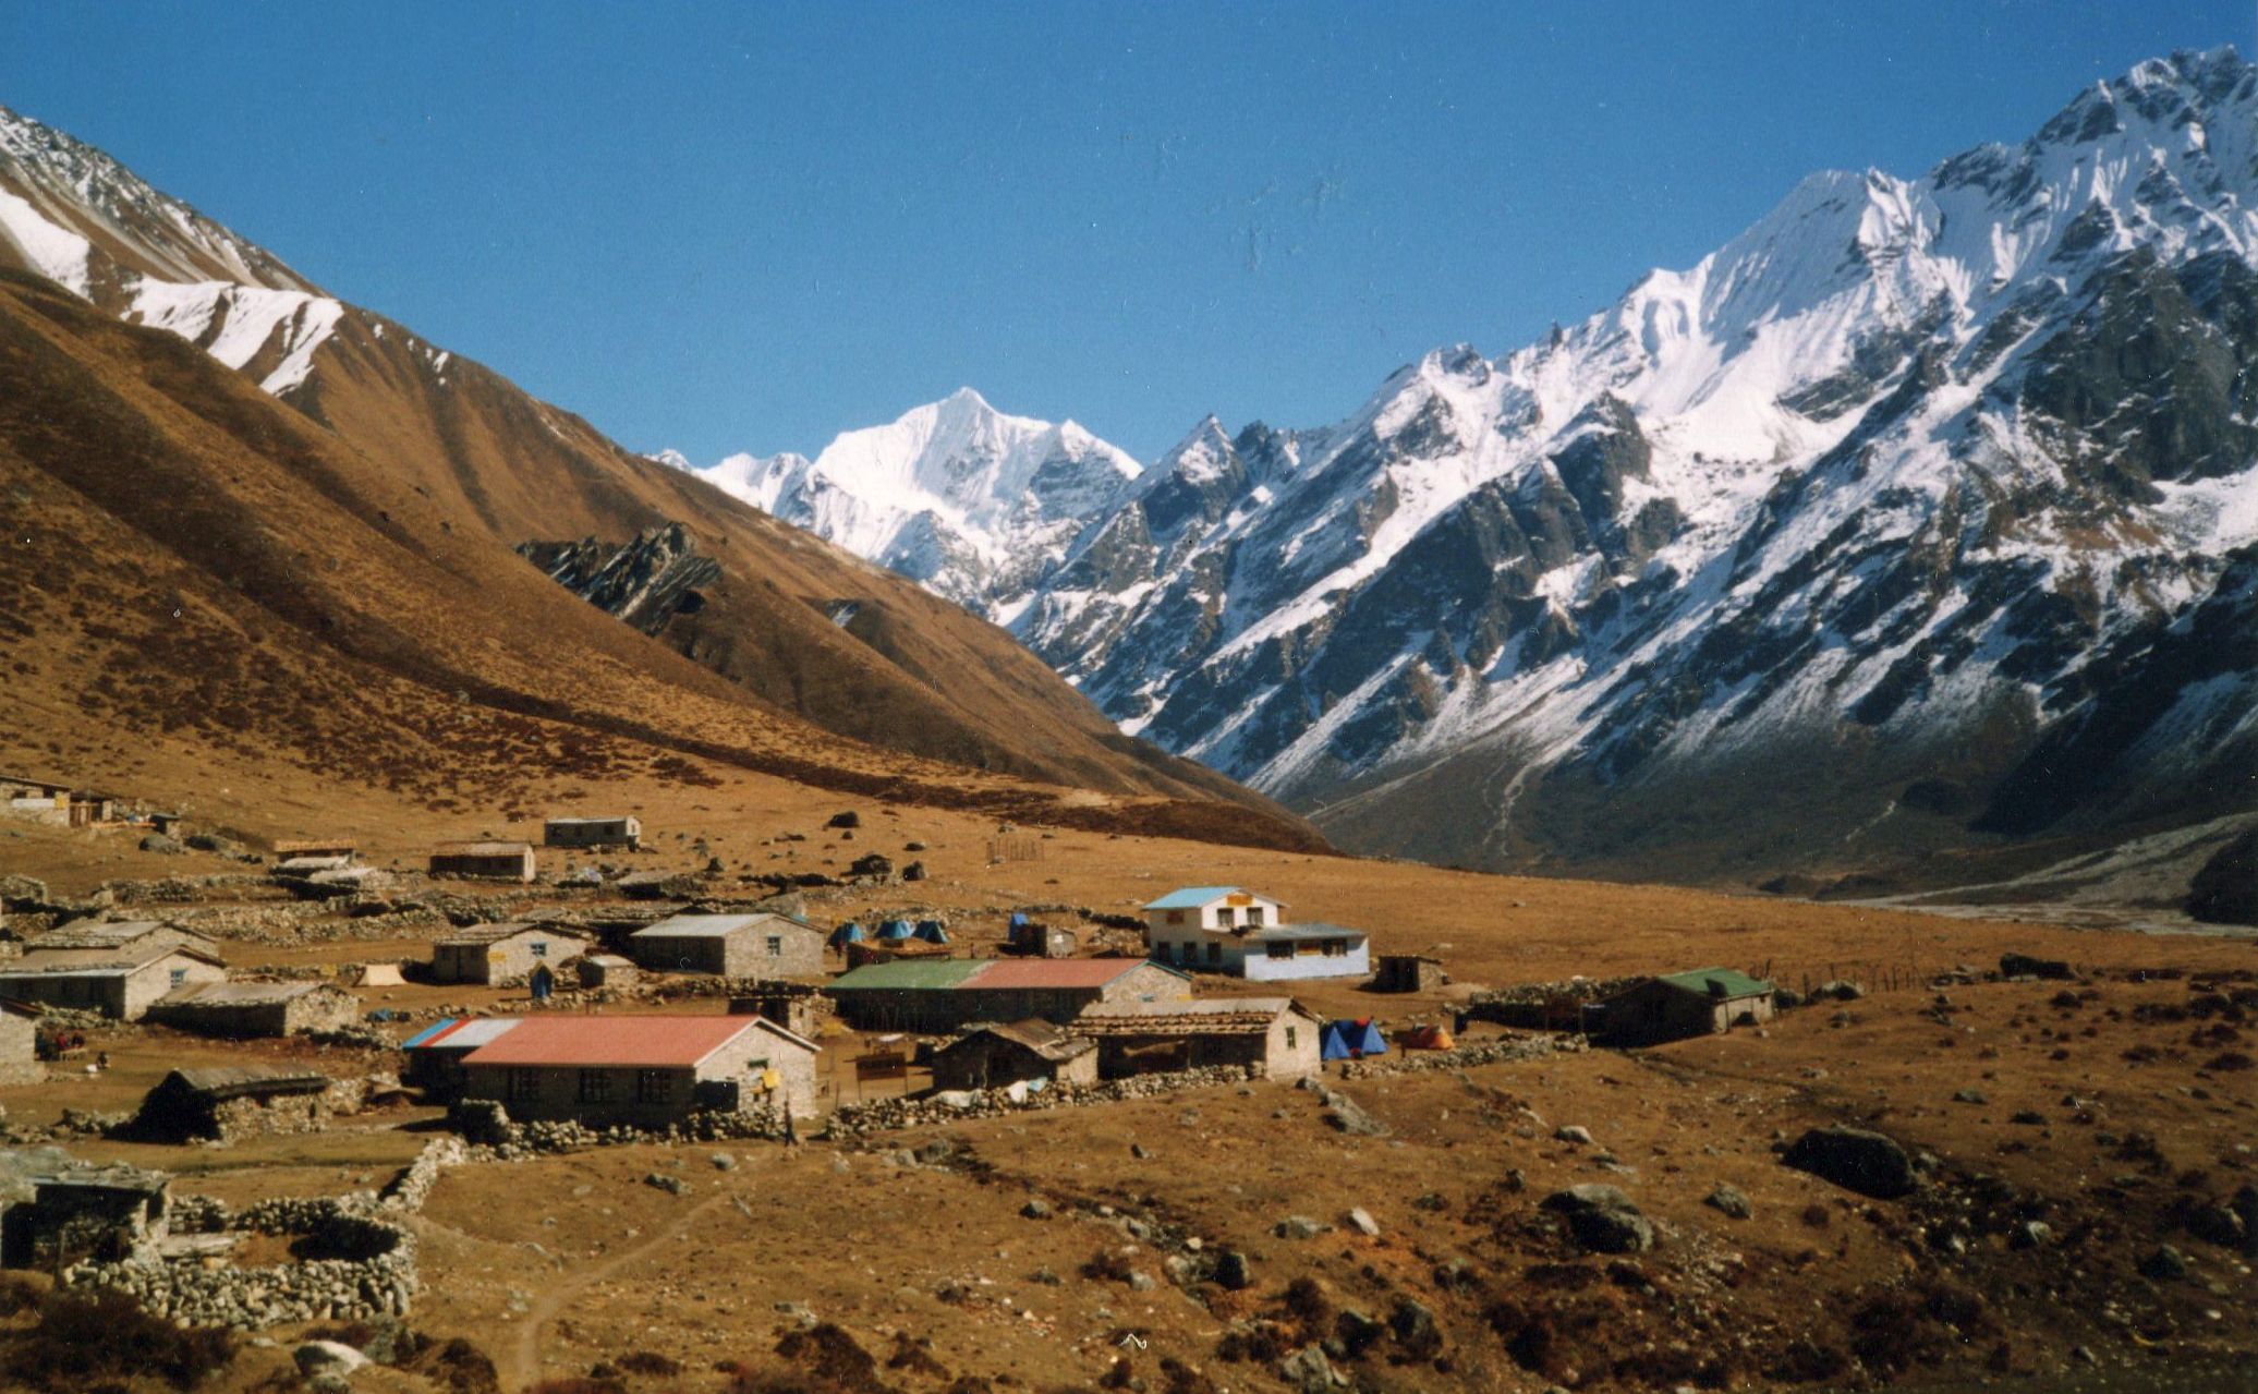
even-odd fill
[{"label": "long stone building with an all-red roof behind a stone wall", "polygon": [[765,1017],[535,1017],[463,1060],[515,1121],[666,1127],[693,1112],[815,1112],[815,1042]]}]

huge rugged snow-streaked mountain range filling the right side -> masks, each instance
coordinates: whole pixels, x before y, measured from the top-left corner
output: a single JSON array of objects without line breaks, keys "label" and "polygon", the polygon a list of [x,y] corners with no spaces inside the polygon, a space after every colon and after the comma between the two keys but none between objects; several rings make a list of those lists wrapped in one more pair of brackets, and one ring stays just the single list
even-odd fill
[{"label": "huge rugged snow-streaked mountain range filling the right side", "polygon": [[1542,343],[1201,422],[1003,617],[1375,850],[1739,874],[2253,809],[2253,163],[2220,50],[1815,174]]}]

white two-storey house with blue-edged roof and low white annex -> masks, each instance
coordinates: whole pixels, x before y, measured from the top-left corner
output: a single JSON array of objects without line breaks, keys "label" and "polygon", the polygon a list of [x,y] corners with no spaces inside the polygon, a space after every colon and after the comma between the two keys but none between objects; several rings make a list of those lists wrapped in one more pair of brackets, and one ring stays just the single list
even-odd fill
[{"label": "white two-storey house with blue-edged roof and low white annex", "polygon": [[1253,983],[1364,978],[1362,929],[1287,924],[1285,901],[1244,886],[1185,886],[1145,906],[1145,951],[1170,967]]}]

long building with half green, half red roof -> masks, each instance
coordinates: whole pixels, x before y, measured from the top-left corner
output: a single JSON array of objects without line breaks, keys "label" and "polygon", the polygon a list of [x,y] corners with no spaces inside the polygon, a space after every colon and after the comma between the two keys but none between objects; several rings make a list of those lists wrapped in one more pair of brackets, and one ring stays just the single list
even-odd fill
[{"label": "long building with half green, half red roof", "polygon": [[824,987],[856,1030],[953,1035],[975,1021],[1068,1023],[1093,1003],[1188,1001],[1192,981],[1138,958],[899,958]]}]

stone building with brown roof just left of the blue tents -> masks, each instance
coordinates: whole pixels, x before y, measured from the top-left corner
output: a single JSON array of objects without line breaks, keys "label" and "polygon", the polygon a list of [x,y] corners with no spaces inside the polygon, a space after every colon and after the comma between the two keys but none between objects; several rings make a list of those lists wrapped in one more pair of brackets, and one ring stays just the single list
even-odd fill
[{"label": "stone building with brown roof just left of the blue tents", "polygon": [[1070,1030],[1097,1042],[1097,1073],[1109,1080],[1224,1064],[1298,1080],[1323,1069],[1323,1021],[1285,996],[1097,1003]]}]

